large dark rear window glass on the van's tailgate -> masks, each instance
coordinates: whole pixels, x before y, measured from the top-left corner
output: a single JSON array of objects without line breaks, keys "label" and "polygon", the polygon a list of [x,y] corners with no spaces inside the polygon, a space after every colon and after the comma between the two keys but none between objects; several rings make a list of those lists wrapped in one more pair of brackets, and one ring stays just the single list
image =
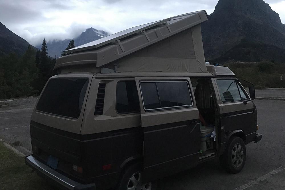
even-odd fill
[{"label": "large dark rear window glass on the van's tailgate", "polygon": [[37,111],[64,117],[78,118],[86,94],[88,79],[51,79],[38,104]]}]

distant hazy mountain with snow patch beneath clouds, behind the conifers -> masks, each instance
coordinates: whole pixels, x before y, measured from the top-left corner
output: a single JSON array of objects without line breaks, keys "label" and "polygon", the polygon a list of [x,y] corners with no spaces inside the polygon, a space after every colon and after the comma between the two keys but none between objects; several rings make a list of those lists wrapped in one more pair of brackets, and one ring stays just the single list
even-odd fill
[{"label": "distant hazy mountain with snow patch beneath clouds, behind the conifers", "polygon": [[[82,32],[79,36],[74,38],[75,46],[81,46],[83,44],[98,40],[107,36],[108,33],[103,30],[97,30],[95,28],[87,28],[85,32]],[[48,55],[51,57],[60,57],[61,51],[64,51],[68,46],[71,39],[65,40],[52,40],[47,43]],[[40,47],[41,45],[39,45]]]}]

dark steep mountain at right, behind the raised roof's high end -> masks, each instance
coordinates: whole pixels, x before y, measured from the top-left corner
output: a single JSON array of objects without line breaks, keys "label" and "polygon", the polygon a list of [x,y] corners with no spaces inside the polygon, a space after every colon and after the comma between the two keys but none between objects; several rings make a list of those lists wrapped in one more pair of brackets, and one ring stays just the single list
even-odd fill
[{"label": "dark steep mountain at right, behind the raised roof's high end", "polygon": [[262,0],[219,0],[201,32],[207,61],[285,62],[285,25]]}]

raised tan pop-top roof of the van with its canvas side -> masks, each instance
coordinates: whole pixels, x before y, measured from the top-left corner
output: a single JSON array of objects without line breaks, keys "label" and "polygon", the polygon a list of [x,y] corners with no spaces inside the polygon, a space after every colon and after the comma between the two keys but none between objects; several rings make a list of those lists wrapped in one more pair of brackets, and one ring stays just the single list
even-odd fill
[{"label": "raised tan pop-top roof of the van with its canvas side", "polygon": [[93,64],[114,72],[207,72],[200,28],[207,20],[207,13],[198,11],[144,25],[106,44],[101,38],[99,44],[73,48],[54,69]]}]

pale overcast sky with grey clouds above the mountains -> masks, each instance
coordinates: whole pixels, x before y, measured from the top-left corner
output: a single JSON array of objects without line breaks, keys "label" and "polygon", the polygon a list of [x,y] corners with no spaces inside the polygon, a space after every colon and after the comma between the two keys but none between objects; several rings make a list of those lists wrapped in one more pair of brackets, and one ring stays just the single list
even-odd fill
[{"label": "pale overcast sky with grey clouds above the mountains", "polygon": [[[218,0],[0,0],[0,22],[36,46],[47,40],[74,38],[86,28],[109,33],[206,10]],[[265,0],[285,23],[285,0]]]}]

